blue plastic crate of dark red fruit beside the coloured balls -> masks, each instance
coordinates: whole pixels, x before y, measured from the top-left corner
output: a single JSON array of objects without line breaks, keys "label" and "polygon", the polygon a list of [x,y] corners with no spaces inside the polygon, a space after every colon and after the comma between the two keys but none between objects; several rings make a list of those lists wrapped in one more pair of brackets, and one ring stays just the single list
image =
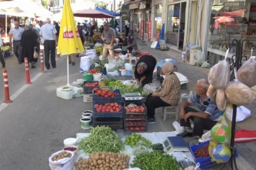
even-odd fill
[{"label": "blue plastic crate of dark red fruit beside the coloured balls", "polygon": [[206,141],[206,142],[202,142],[201,144],[198,144],[198,145],[191,145],[190,146],[190,152],[192,153],[192,156],[195,158],[195,161],[197,161],[199,164],[200,164],[200,169],[204,169],[206,167],[210,167],[210,166],[214,166],[216,165],[217,163],[216,162],[212,162],[211,161],[211,157],[199,157],[199,158],[196,158],[195,157],[195,150],[199,149],[200,147],[204,147],[205,145],[209,145],[209,142],[210,141]]}]

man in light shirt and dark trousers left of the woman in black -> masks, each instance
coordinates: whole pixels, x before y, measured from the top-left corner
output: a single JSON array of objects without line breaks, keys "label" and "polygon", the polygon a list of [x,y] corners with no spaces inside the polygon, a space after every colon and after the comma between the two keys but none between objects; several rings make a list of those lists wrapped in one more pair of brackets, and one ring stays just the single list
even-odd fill
[{"label": "man in light shirt and dark trousers left of the woman in black", "polygon": [[[21,64],[22,62],[24,62],[24,59],[22,59],[21,57],[22,49],[20,46],[23,29],[19,25],[20,24],[18,23],[18,21],[15,21],[15,27],[11,28],[11,30],[9,31],[9,45],[13,47],[13,52],[18,59],[18,64]],[[11,40],[13,40],[13,43],[11,43]]]}]

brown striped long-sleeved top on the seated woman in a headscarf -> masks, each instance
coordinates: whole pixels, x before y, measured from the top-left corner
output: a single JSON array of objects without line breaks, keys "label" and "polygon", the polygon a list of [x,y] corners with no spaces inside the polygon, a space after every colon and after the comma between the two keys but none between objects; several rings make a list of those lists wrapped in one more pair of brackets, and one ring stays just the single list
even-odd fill
[{"label": "brown striped long-sleeved top on the seated woman in a headscarf", "polygon": [[177,105],[180,101],[180,80],[176,74],[170,74],[166,76],[164,82],[162,82],[162,88],[157,92],[162,101],[165,101],[169,105]]}]

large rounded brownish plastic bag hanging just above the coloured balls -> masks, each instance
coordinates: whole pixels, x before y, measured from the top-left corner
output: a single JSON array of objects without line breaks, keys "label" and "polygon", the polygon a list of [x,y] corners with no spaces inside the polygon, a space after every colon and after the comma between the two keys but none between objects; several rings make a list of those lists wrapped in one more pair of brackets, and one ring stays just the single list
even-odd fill
[{"label": "large rounded brownish plastic bag hanging just above the coloured balls", "polygon": [[238,106],[250,105],[255,99],[252,89],[238,80],[228,82],[225,94],[228,103]]}]

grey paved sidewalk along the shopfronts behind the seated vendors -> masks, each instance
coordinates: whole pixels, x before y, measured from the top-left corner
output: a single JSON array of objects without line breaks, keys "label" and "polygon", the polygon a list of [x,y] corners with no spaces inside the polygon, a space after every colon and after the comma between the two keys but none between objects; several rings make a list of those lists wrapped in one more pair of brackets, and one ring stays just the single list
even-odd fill
[{"label": "grey paved sidewalk along the shopfronts behind the seated vendors", "polygon": [[[197,81],[199,79],[207,79],[207,75],[210,69],[203,69],[201,67],[192,66],[182,62],[181,53],[171,49],[169,51],[152,49],[150,48],[150,42],[143,43],[137,41],[137,43],[138,48],[142,52],[149,52],[157,59],[157,62],[164,59],[174,59],[176,61],[175,65],[178,67],[178,72],[188,78],[188,91],[193,91],[195,93]],[[246,107],[252,111],[252,116],[243,122],[236,123],[236,130],[240,130],[242,128],[247,130],[256,130],[256,102],[254,101],[251,105]],[[240,156],[242,156],[243,159],[246,159],[247,161],[247,164],[245,162],[245,164],[243,164],[243,161],[241,160],[241,162],[239,161],[243,169],[245,169],[248,164],[250,164],[250,167],[246,167],[246,169],[251,169],[252,167],[256,168],[256,142],[236,144],[236,149],[238,150],[238,154],[240,154]]]}]

